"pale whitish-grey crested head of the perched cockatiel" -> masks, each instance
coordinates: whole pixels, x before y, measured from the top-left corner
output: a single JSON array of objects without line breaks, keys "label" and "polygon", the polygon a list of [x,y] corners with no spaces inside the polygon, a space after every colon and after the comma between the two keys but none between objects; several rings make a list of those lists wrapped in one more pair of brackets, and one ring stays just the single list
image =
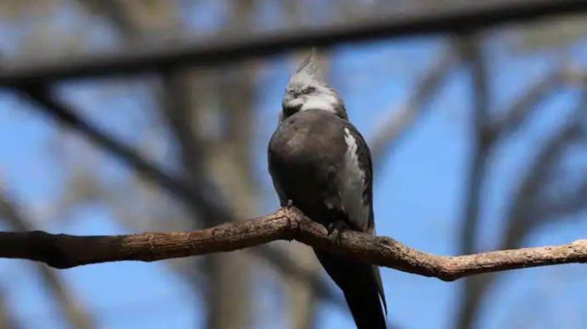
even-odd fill
[{"label": "pale whitish-grey crested head of the perched cockatiel", "polygon": [[289,79],[279,121],[306,110],[329,111],[341,118],[348,119],[345,104],[338,92],[320,76],[314,54],[315,49],[312,49],[312,53],[303,60],[295,74]]}]

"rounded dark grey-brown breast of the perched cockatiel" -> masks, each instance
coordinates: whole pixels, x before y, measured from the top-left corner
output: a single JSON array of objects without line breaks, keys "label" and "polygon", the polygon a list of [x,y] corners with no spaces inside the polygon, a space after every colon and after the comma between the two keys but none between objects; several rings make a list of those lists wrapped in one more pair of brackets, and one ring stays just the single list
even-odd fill
[{"label": "rounded dark grey-brown breast of the perched cockatiel", "polygon": [[297,113],[279,124],[269,142],[269,172],[282,196],[302,206],[336,203],[346,145],[340,118]]}]

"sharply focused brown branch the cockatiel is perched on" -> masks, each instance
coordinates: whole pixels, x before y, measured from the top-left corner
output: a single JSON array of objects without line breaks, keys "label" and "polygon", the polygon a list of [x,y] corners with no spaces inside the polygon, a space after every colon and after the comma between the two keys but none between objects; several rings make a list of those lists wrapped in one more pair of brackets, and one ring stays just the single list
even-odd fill
[{"label": "sharply focused brown branch the cockatiel is perched on", "polygon": [[118,236],[53,235],[42,231],[0,232],[0,257],[36,260],[59,269],[114,262],[154,260],[228,252],[296,239],[353,260],[403,272],[453,281],[479,273],[587,262],[587,240],[569,245],[531,247],[465,256],[437,256],[411,249],[392,238],[326,229],[296,208],[194,232],[139,233]]}]

